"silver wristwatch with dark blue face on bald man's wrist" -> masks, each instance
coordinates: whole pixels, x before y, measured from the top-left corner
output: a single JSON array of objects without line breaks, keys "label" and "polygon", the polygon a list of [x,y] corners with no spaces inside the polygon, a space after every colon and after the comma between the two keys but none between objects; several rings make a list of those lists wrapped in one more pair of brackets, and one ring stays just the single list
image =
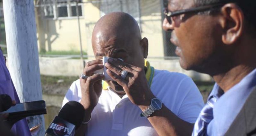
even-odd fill
[{"label": "silver wristwatch with dark blue face on bald man's wrist", "polygon": [[141,113],[141,116],[148,118],[152,113],[156,110],[160,110],[162,108],[162,102],[158,98],[151,99],[151,104],[148,108]]}]

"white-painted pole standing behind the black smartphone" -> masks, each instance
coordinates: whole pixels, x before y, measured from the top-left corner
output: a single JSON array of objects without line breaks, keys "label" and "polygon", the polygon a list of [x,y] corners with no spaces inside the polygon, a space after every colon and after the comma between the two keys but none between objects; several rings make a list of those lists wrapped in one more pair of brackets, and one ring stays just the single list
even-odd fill
[{"label": "white-painted pole standing behind the black smartphone", "polygon": [[[42,100],[36,21],[33,0],[3,0],[9,71],[21,102]],[[27,118],[29,127],[41,124],[43,115]]]}]

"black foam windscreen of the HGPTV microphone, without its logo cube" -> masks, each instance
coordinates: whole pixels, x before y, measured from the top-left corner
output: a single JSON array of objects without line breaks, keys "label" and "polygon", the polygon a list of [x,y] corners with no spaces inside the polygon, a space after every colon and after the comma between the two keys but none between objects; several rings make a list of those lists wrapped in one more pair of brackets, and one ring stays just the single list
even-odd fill
[{"label": "black foam windscreen of the HGPTV microphone, without its logo cube", "polygon": [[58,117],[74,124],[77,129],[83,121],[84,114],[84,107],[79,102],[69,101],[61,108]]}]

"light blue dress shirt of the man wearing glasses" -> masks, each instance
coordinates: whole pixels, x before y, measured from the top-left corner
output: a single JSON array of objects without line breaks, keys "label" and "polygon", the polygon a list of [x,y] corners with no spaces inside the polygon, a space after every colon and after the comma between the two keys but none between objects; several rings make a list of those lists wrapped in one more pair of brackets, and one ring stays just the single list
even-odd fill
[{"label": "light blue dress shirt of the man wearing glasses", "polygon": [[[219,98],[213,107],[213,120],[207,127],[207,135],[223,136],[242,109],[246,99],[256,86],[256,69],[245,76],[225,94],[215,83],[209,98]],[[208,99],[209,99],[208,98]]]}]

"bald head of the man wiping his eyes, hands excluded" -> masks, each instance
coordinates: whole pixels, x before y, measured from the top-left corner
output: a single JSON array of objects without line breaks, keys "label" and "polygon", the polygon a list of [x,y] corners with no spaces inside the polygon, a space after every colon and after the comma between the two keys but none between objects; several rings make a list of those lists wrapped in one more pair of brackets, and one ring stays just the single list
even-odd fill
[{"label": "bald head of the man wiping his eyes, hands excluded", "polygon": [[[96,23],[92,33],[92,48],[96,59],[103,56],[121,58],[127,64],[144,67],[148,56],[148,40],[141,39],[137,21],[123,12],[109,13]],[[115,91],[123,87],[107,81]]]}]

